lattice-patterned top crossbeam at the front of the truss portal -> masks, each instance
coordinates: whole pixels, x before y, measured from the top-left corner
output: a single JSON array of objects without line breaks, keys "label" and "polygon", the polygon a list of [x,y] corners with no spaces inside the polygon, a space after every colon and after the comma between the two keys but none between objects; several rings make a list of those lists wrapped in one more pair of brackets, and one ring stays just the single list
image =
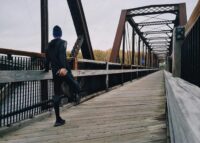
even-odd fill
[{"label": "lattice-patterned top crossbeam at the front of the truss portal", "polygon": [[151,14],[162,14],[162,13],[177,13],[178,4],[165,4],[165,5],[150,5],[134,9],[128,9],[128,16],[142,16]]}]

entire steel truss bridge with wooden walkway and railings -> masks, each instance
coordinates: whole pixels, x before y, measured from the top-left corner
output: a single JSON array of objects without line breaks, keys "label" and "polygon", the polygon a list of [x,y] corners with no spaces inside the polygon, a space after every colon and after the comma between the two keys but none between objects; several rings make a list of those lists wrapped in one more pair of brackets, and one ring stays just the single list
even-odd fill
[{"label": "entire steel truss bridge with wooden walkway and railings", "polygon": [[95,61],[81,0],[67,3],[77,41],[66,60],[81,104],[64,96],[67,123],[51,126],[48,0],[41,0],[41,53],[0,48],[0,142],[199,143],[200,1],[188,20],[185,3],[122,10],[109,61]]}]

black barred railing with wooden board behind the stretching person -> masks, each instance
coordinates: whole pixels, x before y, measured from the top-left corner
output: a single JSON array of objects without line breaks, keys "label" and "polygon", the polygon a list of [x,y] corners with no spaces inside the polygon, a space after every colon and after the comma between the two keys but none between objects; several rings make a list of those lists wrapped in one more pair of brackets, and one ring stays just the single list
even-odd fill
[{"label": "black barred railing with wooden board behind the stretching person", "polygon": [[[0,55],[0,127],[32,118],[52,108],[51,71],[43,72],[44,58]],[[72,61],[70,62],[73,66]],[[81,85],[81,95],[109,89],[145,76],[157,69],[108,62],[79,60],[73,75]]]}]

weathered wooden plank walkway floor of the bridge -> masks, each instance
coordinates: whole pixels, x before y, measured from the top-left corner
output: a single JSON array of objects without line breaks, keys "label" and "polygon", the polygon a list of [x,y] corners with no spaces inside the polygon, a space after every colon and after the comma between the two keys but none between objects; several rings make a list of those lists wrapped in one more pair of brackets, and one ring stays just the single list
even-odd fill
[{"label": "weathered wooden plank walkway floor of the bridge", "polygon": [[0,138],[2,143],[165,143],[163,72],[159,71]]}]

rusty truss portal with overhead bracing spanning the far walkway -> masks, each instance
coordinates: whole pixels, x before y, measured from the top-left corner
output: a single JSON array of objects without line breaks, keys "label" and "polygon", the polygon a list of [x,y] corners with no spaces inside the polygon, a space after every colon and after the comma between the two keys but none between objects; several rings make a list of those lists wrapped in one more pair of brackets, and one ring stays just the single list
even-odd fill
[{"label": "rusty truss portal with overhead bracing spanning the far walkway", "polygon": [[[158,66],[159,59],[172,53],[173,29],[186,24],[186,5],[150,5],[122,10],[110,61],[119,62],[120,48],[126,53],[126,42],[131,42],[131,64]],[[126,28],[128,27],[129,28]],[[132,37],[126,39],[130,31]],[[129,51],[127,51],[128,53]],[[121,63],[129,57],[121,57]],[[124,59],[125,58],[125,59]],[[157,64],[154,64],[157,63]]]}]

